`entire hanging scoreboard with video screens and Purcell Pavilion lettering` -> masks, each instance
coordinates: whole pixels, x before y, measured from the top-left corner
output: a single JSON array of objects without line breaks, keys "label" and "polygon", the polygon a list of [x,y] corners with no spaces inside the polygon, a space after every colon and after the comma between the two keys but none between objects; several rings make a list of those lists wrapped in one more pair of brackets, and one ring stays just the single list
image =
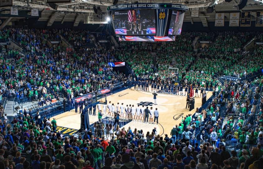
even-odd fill
[{"label": "entire hanging scoreboard with video screens and Purcell Pavilion lettering", "polygon": [[182,32],[188,7],[171,3],[118,4],[110,11],[115,34],[122,41],[174,41]]}]

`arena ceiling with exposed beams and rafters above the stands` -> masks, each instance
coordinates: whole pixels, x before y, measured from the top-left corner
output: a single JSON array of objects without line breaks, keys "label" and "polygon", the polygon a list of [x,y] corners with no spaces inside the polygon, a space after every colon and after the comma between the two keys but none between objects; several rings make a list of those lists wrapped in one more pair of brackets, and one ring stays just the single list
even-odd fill
[{"label": "arena ceiling with exposed beams and rafters above the stands", "polygon": [[[134,3],[135,1],[119,0],[121,3]],[[230,3],[224,0],[139,0],[139,3],[177,3],[184,4],[190,9],[185,13],[185,22],[213,22],[215,13],[218,12],[238,12],[237,6],[240,0],[232,0]],[[38,8],[41,12],[41,18],[38,21],[48,21],[47,26],[54,22],[74,22],[74,26],[83,23],[107,23],[106,17],[97,17],[93,6],[100,6],[105,16],[107,16],[107,6],[112,5],[112,0],[71,0],[71,3],[56,3],[57,10],[49,6],[46,0],[13,0],[13,6],[18,10],[30,10]],[[213,13],[207,13],[209,6],[215,5]],[[7,7],[9,8],[9,7]],[[199,17],[191,17],[191,8],[199,8]],[[1,8],[1,10],[4,8]],[[242,11],[263,11],[263,0],[248,0],[247,5]],[[226,15],[226,21],[229,15]],[[18,20],[21,18],[12,18]],[[253,20],[253,18],[252,18]]]}]

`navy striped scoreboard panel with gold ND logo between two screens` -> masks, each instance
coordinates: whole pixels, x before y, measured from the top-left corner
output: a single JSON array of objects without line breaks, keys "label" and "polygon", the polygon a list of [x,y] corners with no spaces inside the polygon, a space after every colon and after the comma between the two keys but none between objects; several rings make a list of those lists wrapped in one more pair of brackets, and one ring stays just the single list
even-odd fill
[{"label": "navy striped scoreboard panel with gold ND logo between two screens", "polygon": [[157,9],[156,36],[164,36],[167,27],[168,9]]}]

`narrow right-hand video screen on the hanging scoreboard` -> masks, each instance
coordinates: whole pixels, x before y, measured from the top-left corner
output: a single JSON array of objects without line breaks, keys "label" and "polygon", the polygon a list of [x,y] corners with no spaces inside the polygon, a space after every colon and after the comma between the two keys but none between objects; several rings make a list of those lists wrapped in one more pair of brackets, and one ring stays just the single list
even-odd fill
[{"label": "narrow right-hand video screen on the hanging scoreboard", "polygon": [[174,11],[172,13],[168,35],[180,35],[182,32],[184,13]]}]

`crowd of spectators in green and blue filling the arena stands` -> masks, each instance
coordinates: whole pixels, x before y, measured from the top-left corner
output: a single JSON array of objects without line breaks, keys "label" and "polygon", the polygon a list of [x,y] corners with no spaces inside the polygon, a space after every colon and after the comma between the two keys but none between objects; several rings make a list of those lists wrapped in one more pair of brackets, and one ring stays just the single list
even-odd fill
[{"label": "crowd of spectators in green and blue filling the arena stands", "polygon": [[[93,41],[88,31],[64,29],[50,32],[36,29],[21,32],[18,28],[1,31],[3,37],[12,37],[29,51],[23,55],[12,50],[1,56],[1,94],[13,95],[19,99],[23,96],[29,100],[44,100],[45,97],[56,97],[55,92],[59,92],[66,94],[70,100],[80,93],[92,91],[92,81],[99,81],[99,88],[104,88],[129,78],[114,72],[108,66],[107,62],[113,61],[114,56],[130,64],[137,77],[157,80],[156,76],[148,75],[155,69],[151,46],[129,42],[129,45],[121,43],[120,49],[115,51],[101,46],[87,50],[82,48],[83,44]],[[58,33],[68,38],[77,48],[81,48],[63,51],[58,45],[47,44],[47,39],[51,36],[58,38]],[[8,122],[6,116],[0,121],[0,168],[259,169],[263,164],[263,99],[260,97],[262,77],[254,84],[230,81],[220,85],[213,79],[214,73],[224,70],[220,68],[222,64],[218,63],[221,60],[217,56],[225,51],[229,55],[234,54],[235,49],[240,48],[247,39],[237,38],[240,33],[219,33],[208,50],[213,51],[215,57],[211,59],[204,54],[206,59],[196,60],[192,42],[195,36],[202,35],[185,33],[178,38],[178,42],[160,43],[157,46],[157,71],[162,79],[169,78],[167,68],[174,59],[175,65],[180,67],[179,76],[185,83],[203,85],[204,82],[205,86],[214,88],[211,104],[201,113],[197,108],[193,117],[191,114],[184,117],[171,130],[171,137],[168,137],[169,133],[160,136],[156,129],[132,131],[131,128],[122,128],[114,131],[118,135],[117,139],[111,133],[113,137],[107,140],[103,134],[94,135],[92,130],[76,138],[63,138],[60,131],[56,131],[55,119],[41,119],[39,114],[33,117],[30,112],[25,111],[12,122]],[[210,33],[205,34],[206,36],[214,37]],[[234,49],[229,46],[233,42],[237,42]],[[219,51],[218,44],[223,45],[220,50],[224,51]],[[256,62],[259,62],[260,67],[262,48],[249,55],[251,56],[256,61],[251,60],[242,69],[250,69],[250,65]],[[223,61],[224,57],[219,58]],[[239,61],[237,63],[242,64]],[[187,71],[186,74],[183,74],[184,71]],[[255,92],[251,89],[255,89]],[[48,95],[47,90],[50,90],[51,95]],[[238,121],[234,124],[233,117],[229,116],[227,123],[223,125],[223,117],[234,112],[241,113]],[[223,141],[236,141],[243,149],[240,148],[240,154],[231,151],[230,155]],[[247,145],[257,147],[250,151],[247,150]]]}]

